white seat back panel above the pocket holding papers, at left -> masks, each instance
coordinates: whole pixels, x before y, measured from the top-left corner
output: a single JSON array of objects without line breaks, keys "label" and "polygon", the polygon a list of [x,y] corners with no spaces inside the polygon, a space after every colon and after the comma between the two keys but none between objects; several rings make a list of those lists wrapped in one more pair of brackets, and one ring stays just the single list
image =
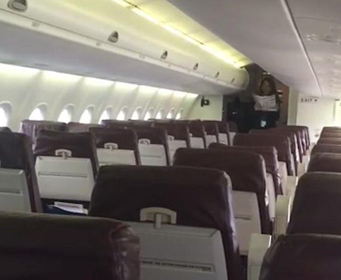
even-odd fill
[{"label": "white seat back panel above the pocket holding papers, at left", "polygon": [[90,201],[95,184],[90,159],[39,156],[35,170],[41,198]]}]

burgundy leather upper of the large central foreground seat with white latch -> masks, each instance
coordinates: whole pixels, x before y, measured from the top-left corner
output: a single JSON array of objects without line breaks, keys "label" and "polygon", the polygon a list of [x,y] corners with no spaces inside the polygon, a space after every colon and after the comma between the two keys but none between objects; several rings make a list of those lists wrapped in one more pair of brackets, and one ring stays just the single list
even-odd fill
[{"label": "burgundy leather upper of the large central foreground seat with white latch", "polygon": [[177,212],[177,224],[221,231],[229,279],[241,279],[231,182],[220,170],[163,166],[102,166],[93,191],[91,216],[140,221],[140,211]]}]

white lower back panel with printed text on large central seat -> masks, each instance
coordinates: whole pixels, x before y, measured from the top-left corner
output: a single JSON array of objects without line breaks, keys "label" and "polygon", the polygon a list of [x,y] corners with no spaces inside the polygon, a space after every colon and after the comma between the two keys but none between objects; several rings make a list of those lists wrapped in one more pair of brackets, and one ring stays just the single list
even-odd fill
[{"label": "white lower back panel with printed text on large central seat", "polygon": [[219,230],[129,222],[140,238],[141,280],[227,280]]}]

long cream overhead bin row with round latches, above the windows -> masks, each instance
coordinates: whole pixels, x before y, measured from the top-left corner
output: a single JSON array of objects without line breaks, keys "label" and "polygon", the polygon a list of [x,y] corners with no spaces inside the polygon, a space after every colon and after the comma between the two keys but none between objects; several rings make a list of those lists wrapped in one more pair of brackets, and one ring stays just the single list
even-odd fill
[{"label": "long cream overhead bin row with round latches, above the windows", "polygon": [[0,3],[1,62],[199,94],[248,84],[246,70],[111,0],[26,3],[23,12]]}]

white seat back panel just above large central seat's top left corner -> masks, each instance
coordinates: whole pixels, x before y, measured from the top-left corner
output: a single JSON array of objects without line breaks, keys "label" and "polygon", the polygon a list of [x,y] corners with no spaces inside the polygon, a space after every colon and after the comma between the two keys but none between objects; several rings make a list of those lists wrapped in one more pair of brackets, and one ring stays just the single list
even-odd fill
[{"label": "white seat back panel just above large central seat's top left corner", "polygon": [[103,165],[136,165],[135,153],[133,150],[109,150],[97,149],[97,157],[100,166]]}]

